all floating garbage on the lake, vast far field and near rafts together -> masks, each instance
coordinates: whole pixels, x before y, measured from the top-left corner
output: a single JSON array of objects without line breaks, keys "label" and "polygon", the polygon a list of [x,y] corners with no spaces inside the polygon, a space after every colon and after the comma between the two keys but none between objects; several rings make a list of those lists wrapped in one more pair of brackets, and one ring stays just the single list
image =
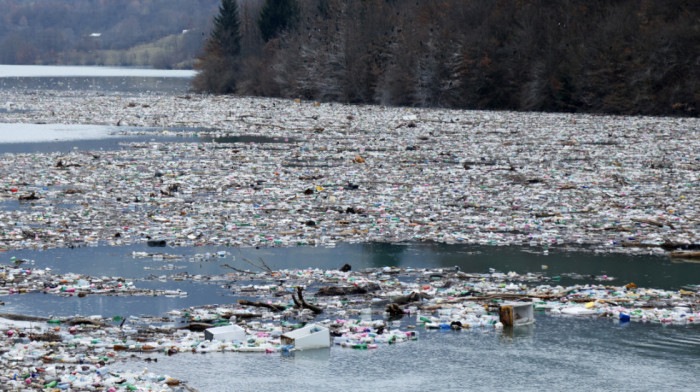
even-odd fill
[{"label": "all floating garbage on the lake, vast far field and near rafts together", "polygon": [[[191,142],[151,133],[150,141],[107,150],[1,155],[1,250],[440,242],[515,245],[537,254],[581,247],[688,256],[700,241],[698,119],[442,109],[407,115],[388,107],[358,114],[355,106],[266,98],[71,91],[0,91],[2,99],[19,109],[0,112],[3,123],[104,124],[122,135],[147,134],[132,127],[158,127]],[[260,139],[243,141],[244,135]],[[144,253],[134,257],[173,269],[182,261]],[[228,257],[199,253],[189,261]],[[0,295],[186,295],[12,261],[0,271]],[[318,340],[355,349],[417,339],[415,330],[402,331],[390,320],[397,317],[438,332],[500,333],[506,327],[500,311],[508,306],[514,325],[535,317],[530,306],[552,315],[700,323],[697,282],[658,290],[600,275],[590,284],[562,286],[561,276],[542,273],[547,265],[540,270],[236,271],[211,281],[257,301],[181,310],[158,323],[0,320],[0,384],[168,390],[179,381],[120,374],[119,361],[273,354],[289,350],[289,343],[302,348],[306,338],[307,348]],[[509,301],[531,305],[521,312]],[[382,307],[386,319],[373,320]],[[234,324],[245,329],[244,338],[238,331],[214,339],[212,331],[237,330]]]}]

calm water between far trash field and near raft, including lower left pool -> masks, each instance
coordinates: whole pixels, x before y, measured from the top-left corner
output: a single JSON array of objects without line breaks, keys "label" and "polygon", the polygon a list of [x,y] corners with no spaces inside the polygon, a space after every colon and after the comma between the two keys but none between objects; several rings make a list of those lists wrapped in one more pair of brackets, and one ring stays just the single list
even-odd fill
[{"label": "calm water between far trash field and near raft, including lower left pool", "polygon": [[[217,252],[228,252],[219,257]],[[181,256],[178,259],[155,261],[152,257],[134,258],[132,252],[163,253]],[[210,257],[206,257],[207,254]],[[196,255],[205,260],[197,260]],[[469,273],[488,273],[490,268],[500,272],[535,272],[548,277],[560,277],[554,284],[574,285],[596,283],[595,278],[608,275],[612,284],[634,282],[640,287],[677,290],[687,284],[697,284],[700,265],[672,263],[658,256],[596,256],[586,252],[566,252],[550,249],[549,255],[531,252],[529,248],[477,247],[446,244],[340,244],[334,248],[225,248],[149,247],[138,244],[123,247],[85,247],[78,249],[23,250],[3,252],[0,263],[10,264],[10,258],[31,260],[23,267],[51,268],[54,273],[79,273],[88,276],[123,277],[133,279],[139,288],[180,289],[187,297],[56,297],[43,294],[0,297],[5,302],[3,312],[56,316],[75,314],[162,315],[168,310],[189,306],[233,303],[240,297],[221,287],[226,282],[207,284],[201,281],[175,280],[177,275],[221,275],[230,272],[224,264],[240,269],[252,268],[244,259],[263,259],[273,269],[321,268],[336,269],[350,264],[354,270],[384,266],[439,268],[458,266]],[[542,270],[546,265],[547,269]],[[172,267],[172,269],[164,269]],[[162,282],[157,278],[165,278]],[[114,313],[114,314],[112,314]]]}]

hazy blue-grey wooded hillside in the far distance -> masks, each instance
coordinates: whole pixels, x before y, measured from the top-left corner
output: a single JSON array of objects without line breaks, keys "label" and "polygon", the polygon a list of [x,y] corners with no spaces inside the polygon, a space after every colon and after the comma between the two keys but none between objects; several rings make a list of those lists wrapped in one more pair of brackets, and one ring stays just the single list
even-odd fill
[{"label": "hazy blue-grey wooded hillside in the far distance", "polygon": [[[191,64],[219,1],[0,0],[0,63],[101,64],[104,52],[116,51],[122,52],[118,65]],[[160,58],[128,56],[130,48],[170,35],[179,37]]]}]

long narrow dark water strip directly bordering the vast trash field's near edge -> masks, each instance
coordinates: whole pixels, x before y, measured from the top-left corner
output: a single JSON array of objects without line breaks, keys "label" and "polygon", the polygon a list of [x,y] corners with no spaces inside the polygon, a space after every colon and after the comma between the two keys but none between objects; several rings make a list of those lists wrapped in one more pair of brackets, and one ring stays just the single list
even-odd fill
[{"label": "long narrow dark water strip directly bordering the vast trash field's near edge", "polygon": [[[211,261],[189,262],[195,254],[228,251],[231,256],[212,258]],[[527,250],[527,248],[525,248]],[[640,287],[678,290],[688,284],[697,284],[700,265],[673,263],[661,256],[630,256],[624,254],[596,255],[589,252],[563,251],[550,248],[549,255],[524,252],[518,247],[480,247],[450,244],[339,244],[333,248],[226,248],[226,247],[166,247],[149,248],[146,244],[124,247],[87,247],[80,249],[22,250],[5,252],[0,262],[11,256],[35,260],[36,267],[50,267],[59,273],[75,272],[87,275],[113,275],[126,278],[143,278],[150,274],[168,274],[168,271],[145,270],[163,262],[151,258],[132,258],[132,252],[166,253],[182,256],[181,262],[169,261],[185,269],[177,272],[216,275],[224,272],[222,264],[238,268],[251,268],[243,261],[265,260],[273,269],[321,268],[337,269],[350,264],[353,270],[385,266],[411,268],[459,267],[464,272],[488,273],[490,268],[500,272],[514,271],[520,274],[539,273],[555,278],[554,284],[573,285],[600,283],[601,275],[615,278],[611,284],[625,285],[634,282]],[[4,259],[4,260],[3,260]],[[542,269],[546,266],[546,269]]]}]

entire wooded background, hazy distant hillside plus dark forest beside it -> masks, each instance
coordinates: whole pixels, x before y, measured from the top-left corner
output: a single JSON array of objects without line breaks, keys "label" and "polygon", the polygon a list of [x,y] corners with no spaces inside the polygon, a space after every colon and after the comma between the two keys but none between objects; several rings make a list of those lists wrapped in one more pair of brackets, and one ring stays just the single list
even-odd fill
[{"label": "entire wooded background, hazy distant hillside plus dark forest beside it", "polygon": [[698,116],[697,0],[0,0],[0,63],[196,68],[193,90]]}]

